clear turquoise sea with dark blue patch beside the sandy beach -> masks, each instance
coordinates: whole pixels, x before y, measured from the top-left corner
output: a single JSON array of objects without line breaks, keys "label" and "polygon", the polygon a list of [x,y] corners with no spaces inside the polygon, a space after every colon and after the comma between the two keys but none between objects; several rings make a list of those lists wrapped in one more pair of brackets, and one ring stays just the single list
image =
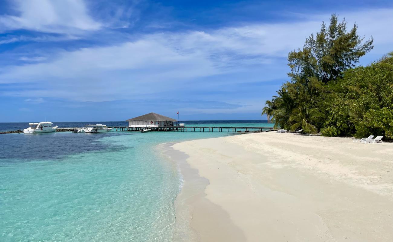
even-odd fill
[{"label": "clear turquoise sea with dark blue patch beside the sandy beach", "polygon": [[171,241],[181,178],[157,145],[222,135],[233,133],[0,135],[0,241]]}]

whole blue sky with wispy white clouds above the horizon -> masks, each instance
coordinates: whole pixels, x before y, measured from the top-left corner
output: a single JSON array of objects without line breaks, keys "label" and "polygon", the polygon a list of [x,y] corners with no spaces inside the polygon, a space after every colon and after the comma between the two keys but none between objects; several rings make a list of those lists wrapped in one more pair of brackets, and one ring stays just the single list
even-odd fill
[{"label": "whole blue sky with wispy white clouds above the horizon", "polygon": [[332,13],[393,50],[392,1],[0,1],[0,122],[266,120]]}]

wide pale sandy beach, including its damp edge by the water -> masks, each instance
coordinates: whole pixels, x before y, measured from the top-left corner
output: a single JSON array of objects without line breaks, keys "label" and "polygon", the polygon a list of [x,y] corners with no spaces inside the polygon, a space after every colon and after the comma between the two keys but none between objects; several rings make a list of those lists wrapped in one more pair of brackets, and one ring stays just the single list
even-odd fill
[{"label": "wide pale sandy beach, including its damp edge by the water", "polygon": [[393,241],[392,143],[268,132],[173,148],[177,240]]}]

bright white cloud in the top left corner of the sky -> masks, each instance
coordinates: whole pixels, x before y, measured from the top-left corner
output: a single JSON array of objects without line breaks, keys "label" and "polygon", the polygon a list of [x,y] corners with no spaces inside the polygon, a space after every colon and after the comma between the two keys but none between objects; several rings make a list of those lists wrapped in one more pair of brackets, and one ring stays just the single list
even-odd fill
[{"label": "bright white cloud in the top left corner of the sky", "polygon": [[0,16],[0,31],[26,29],[46,33],[81,33],[99,30],[79,0],[16,0],[19,15]]}]

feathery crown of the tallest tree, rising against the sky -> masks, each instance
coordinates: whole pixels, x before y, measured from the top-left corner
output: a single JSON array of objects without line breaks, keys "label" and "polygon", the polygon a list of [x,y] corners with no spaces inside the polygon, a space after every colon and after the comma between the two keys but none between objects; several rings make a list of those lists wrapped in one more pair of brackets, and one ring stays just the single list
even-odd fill
[{"label": "feathery crown of the tallest tree, rising against the sky", "polygon": [[315,37],[311,34],[302,50],[288,54],[288,76],[293,81],[304,80],[305,84],[313,77],[323,83],[340,77],[373,48],[373,37],[363,42],[357,30],[354,24],[347,32],[347,22],[338,22],[338,15],[332,14],[329,27],[322,22],[320,32]]}]

